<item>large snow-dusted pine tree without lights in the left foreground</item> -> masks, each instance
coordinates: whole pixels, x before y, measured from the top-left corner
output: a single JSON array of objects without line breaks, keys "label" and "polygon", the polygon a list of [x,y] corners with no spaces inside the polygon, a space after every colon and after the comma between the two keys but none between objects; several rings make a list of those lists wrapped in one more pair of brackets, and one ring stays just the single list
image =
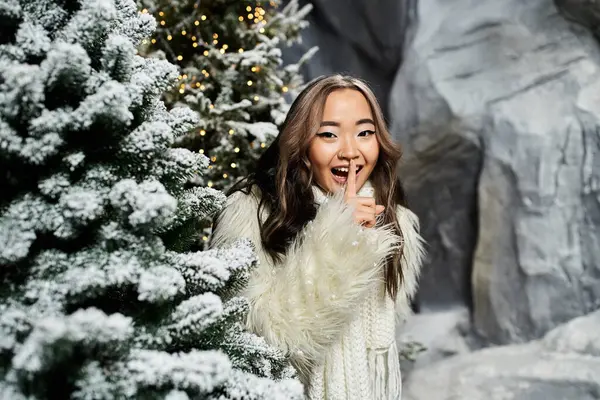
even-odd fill
[{"label": "large snow-dusted pine tree without lights in the left foreground", "polygon": [[184,252],[223,203],[133,0],[0,0],[0,398],[302,397],[243,331],[249,242]]}]

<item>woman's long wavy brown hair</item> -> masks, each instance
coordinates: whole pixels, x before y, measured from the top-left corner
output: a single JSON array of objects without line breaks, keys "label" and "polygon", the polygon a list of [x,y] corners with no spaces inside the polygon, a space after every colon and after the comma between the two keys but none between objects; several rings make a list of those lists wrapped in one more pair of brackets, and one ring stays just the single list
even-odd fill
[{"label": "woman's long wavy brown hair", "polygon": [[[238,190],[250,193],[253,187],[259,189],[257,218],[262,245],[274,260],[281,260],[304,225],[315,218],[317,210],[311,188],[313,174],[308,149],[319,129],[327,96],[340,89],[358,90],[371,107],[380,150],[369,180],[375,189],[377,204],[385,206],[381,223],[390,224],[402,237],[396,219],[396,206],[406,206],[404,190],[396,175],[402,152],[392,142],[381,107],[362,80],[343,75],[322,76],[300,92],[290,107],[279,136],[259,158],[256,169],[228,193]],[[266,215],[264,221],[262,215]],[[401,257],[402,253],[398,252],[386,263],[386,289],[393,299],[402,284]]]}]

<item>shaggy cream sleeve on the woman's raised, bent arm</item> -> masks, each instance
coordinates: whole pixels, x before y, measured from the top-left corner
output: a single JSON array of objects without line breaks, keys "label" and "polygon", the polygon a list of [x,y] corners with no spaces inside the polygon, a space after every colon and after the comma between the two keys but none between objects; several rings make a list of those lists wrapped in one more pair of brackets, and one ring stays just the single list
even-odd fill
[{"label": "shaggy cream sleeve on the woman's raised, bent arm", "polygon": [[399,238],[387,227],[364,229],[353,221],[342,194],[319,206],[317,215],[273,265],[260,245],[253,195],[235,193],[218,219],[213,246],[237,238],[256,245],[259,265],[245,295],[247,325],[288,352],[306,374],[340,336],[368,290],[383,279],[383,264],[398,251]]}]

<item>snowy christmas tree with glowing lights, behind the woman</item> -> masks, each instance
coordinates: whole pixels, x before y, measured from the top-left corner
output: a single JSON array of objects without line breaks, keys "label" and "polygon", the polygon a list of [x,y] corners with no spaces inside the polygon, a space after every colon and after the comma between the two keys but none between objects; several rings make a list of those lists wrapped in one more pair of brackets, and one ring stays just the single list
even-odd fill
[{"label": "snowy christmas tree with glowing lights, behind the woman", "polygon": [[316,49],[283,67],[280,46],[300,39],[311,6],[300,9],[297,0],[283,9],[265,0],[139,4],[159,22],[143,51],[180,67],[167,104],[185,103],[201,115],[178,144],[210,158],[205,179],[196,181],[227,189],[277,136],[289,99],[301,88],[299,68]]}]

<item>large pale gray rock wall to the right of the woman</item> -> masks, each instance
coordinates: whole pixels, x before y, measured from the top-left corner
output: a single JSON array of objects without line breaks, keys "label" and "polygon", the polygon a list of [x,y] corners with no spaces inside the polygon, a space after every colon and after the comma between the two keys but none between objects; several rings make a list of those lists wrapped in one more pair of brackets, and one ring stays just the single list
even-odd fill
[{"label": "large pale gray rock wall to the right of the woman", "polygon": [[390,115],[429,241],[422,307],[470,304],[470,276],[493,343],[597,309],[598,44],[551,0],[420,0],[414,18]]}]

